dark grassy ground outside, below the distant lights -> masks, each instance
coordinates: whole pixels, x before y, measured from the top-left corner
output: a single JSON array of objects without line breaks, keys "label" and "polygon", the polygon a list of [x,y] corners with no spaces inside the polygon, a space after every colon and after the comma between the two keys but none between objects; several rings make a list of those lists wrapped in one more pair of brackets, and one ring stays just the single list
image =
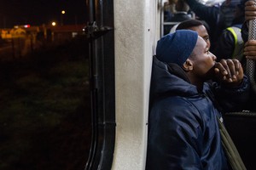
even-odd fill
[{"label": "dark grassy ground outside, below the distant lights", "polygon": [[1,170],[84,169],[91,133],[86,47],[78,38],[0,61]]}]

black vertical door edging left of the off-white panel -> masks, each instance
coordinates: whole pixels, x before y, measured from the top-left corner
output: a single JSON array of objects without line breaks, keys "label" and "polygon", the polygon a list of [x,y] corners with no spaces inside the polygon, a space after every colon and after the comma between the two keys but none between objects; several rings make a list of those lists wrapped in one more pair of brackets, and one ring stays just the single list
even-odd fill
[{"label": "black vertical door edging left of the off-white panel", "polygon": [[85,170],[110,169],[115,139],[113,1],[86,1],[89,22],[91,144]]}]

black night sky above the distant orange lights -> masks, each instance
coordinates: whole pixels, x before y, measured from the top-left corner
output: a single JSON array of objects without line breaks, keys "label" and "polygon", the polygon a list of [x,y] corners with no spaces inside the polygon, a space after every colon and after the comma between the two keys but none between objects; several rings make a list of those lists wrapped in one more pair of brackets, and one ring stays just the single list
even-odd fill
[{"label": "black night sky above the distant orange lights", "polygon": [[16,25],[41,26],[52,21],[63,25],[84,24],[86,20],[86,0],[0,0],[0,28]]}]

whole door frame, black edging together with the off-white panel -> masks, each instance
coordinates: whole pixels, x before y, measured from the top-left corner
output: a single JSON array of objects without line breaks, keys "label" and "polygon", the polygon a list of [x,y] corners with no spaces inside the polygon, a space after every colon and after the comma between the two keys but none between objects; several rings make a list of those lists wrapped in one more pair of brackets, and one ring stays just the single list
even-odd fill
[{"label": "whole door frame, black edging together with the off-white panel", "polygon": [[161,1],[86,3],[94,130],[85,169],[144,169],[151,65],[160,37]]}]

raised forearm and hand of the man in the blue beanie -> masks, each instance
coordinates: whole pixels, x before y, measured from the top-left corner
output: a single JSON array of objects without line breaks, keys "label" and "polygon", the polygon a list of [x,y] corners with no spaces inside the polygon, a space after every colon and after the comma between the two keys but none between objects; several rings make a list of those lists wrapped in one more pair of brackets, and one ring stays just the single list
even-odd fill
[{"label": "raised forearm and hand of the man in the blue beanie", "polygon": [[215,65],[218,83],[213,83],[213,93],[224,111],[237,111],[246,104],[250,82],[243,74],[237,59],[222,59]]}]

